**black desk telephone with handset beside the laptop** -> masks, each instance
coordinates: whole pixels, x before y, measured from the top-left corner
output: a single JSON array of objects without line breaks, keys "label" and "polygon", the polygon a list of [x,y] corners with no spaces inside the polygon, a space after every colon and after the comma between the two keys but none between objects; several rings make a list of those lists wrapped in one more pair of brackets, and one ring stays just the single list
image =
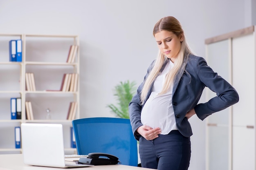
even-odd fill
[{"label": "black desk telephone with handset beside the laptop", "polygon": [[79,164],[89,165],[115,165],[119,162],[118,157],[100,152],[89,153],[88,157],[80,157],[78,161]]}]

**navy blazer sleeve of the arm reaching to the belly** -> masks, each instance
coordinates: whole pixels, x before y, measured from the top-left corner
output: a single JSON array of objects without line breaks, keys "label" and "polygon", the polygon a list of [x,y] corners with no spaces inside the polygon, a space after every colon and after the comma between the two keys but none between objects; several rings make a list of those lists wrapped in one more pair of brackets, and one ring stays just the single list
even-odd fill
[{"label": "navy blazer sleeve of the arm reaching to the belly", "polygon": [[144,86],[144,82],[145,82],[146,78],[148,77],[148,74],[150,73],[150,71],[153,68],[154,62],[155,62],[155,60],[148,67],[147,73],[144,76],[144,81],[137,88],[137,93],[132,97],[132,100],[128,106],[130,122],[131,122],[131,126],[132,126],[132,132],[135,136],[135,139],[137,139],[137,140],[139,140],[139,137],[141,135],[139,135],[136,132],[136,130],[137,130],[137,128],[139,128],[139,126],[143,125],[143,124],[141,124],[141,109],[142,109],[142,104],[141,104],[141,99],[140,99],[141,90]]}]

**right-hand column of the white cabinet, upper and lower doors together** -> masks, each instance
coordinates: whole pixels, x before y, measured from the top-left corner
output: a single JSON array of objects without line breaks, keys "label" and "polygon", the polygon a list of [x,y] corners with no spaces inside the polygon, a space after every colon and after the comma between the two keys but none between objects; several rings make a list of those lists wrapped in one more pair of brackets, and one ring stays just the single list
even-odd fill
[{"label": "right-hand column of the white cabinet, upper and lower doors together", "polygon": [[232,40],[233,85],[240,101],[233,107],[233,170],[255,170],[255,32]]}]

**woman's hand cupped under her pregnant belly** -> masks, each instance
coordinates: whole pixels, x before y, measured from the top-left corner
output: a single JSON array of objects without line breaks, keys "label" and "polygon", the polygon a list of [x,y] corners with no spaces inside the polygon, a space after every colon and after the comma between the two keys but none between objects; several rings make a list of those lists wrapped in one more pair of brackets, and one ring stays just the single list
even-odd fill
[{"label": "woman's hand cupped under her pregnant belly", "polygon": [[153,140],[162,132],[160,128],[151,128],[150,126],[139,126],[137,132],[147,140]]}]

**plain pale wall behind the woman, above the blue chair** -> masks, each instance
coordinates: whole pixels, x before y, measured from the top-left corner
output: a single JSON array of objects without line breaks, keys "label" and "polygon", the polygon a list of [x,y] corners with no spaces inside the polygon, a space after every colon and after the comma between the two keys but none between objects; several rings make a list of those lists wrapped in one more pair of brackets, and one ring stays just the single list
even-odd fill
[{"label": "plain pale wall behind the woman, above the blue chair", "polygon": [[[204,57],[204,39],[248,26],[247,8],[244,0],[1,0],[0,33],[79,35],[81,116],[113,117],[106,105],[115,102],[114,86],[127,79],[139,85],[156,57],[157,20],[175,16]],[[190,122],[189,170],[204,170],[205,121]]]}]

